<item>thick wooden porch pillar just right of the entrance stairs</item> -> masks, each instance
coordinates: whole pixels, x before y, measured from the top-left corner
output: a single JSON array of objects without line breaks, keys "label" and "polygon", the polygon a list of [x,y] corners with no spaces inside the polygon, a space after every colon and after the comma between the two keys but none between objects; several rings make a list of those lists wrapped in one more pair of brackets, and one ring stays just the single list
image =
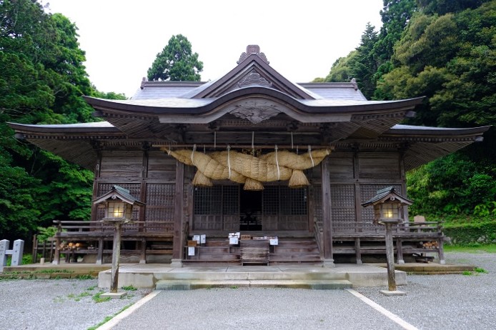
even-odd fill
[{"label": "thick wooden porch pillar just right of the entrance stairs", "polygon": [[329,158],[326,157],[320,166],[322,171],[322,223],[324,225],[324,266],[335,266],[332,256],[332,214],[331,214],[331,182],[329,178]]}]

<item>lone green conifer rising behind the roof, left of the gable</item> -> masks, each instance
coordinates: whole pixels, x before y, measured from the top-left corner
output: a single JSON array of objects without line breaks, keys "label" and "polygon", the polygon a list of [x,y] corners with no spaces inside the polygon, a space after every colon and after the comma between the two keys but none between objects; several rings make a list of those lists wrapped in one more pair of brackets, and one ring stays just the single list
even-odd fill
[{"label": "lone green conifer rising behind the roof, left of the gable", "polygon": [[169,43],[148,69],[152,81],[199,81],[203,62],[192,53],[192,45],[182,34],[172,36]]}]

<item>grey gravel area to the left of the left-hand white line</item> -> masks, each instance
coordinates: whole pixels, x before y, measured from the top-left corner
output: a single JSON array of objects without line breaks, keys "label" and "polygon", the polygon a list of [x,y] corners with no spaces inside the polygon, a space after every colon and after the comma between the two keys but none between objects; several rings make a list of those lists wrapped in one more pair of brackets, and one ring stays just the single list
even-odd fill
[{"label": "grey gravel area to the left of the left-hand white line", "polygon": [[129,291],[123,299],[96,303],[93,297],[99,292],[105,291],[96,279],[0,281],[0,329],[88,329],[150,290]]}]

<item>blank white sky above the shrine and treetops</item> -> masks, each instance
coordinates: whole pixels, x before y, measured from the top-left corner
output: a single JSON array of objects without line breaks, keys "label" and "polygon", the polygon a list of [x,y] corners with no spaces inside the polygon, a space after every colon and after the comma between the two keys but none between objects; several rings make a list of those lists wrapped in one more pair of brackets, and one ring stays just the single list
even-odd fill
[{"label": "blank white sky above the shrine and treetops", "polygon": [[99,91],[130,97],[171,36],[183,34],[203,61],[202,81],[236,66],[258,44],[290,81],[324,77],[359,45],[367,22],[378,30],[382,0],[44,0],[79,28],[86,72]]}]

